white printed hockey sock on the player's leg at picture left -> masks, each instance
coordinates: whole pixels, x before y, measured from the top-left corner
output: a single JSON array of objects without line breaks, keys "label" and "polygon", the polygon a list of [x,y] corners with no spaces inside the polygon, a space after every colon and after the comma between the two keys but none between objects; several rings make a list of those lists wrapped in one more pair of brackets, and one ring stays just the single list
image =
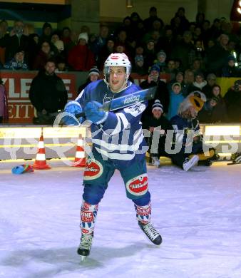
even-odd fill
[{"label": "white printed hockey sock on the player's leg at picture left", "polygon": [[93,233],[95,227],[96,215],[98,212],[98,204],[91,205],[83,200],[81,205],[81,232],[84,235]]}]

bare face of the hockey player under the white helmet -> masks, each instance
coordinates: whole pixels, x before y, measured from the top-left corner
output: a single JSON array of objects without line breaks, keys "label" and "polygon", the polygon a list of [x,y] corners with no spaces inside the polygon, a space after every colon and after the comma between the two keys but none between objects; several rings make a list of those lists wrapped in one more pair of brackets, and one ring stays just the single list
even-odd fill
[{"label": "bare face of the hockey player under the white helmet", "polygon": [[125,68],[123,66],[111,66],[110,67],[110,87],[111,91],[117,92],[125,83]]}]

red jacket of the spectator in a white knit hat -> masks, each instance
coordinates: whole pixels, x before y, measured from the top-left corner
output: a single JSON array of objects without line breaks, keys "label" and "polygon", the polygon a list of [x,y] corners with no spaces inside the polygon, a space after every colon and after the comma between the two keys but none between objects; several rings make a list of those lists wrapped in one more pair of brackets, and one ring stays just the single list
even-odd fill
[{"label": "red jacket of the spectator in a white knit hat", "polygon": [[93,52],[88,46],[74,46],[68,53],[68,64],[75,71],[89,71],[95,66]]}]

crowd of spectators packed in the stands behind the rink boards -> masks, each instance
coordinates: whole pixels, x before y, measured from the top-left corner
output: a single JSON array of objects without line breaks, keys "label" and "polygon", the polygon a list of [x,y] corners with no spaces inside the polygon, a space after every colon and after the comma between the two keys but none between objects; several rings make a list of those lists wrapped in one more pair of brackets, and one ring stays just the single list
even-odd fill
[{"label": "crowd of spectators packed in the stands behind the rink boards", "polygon": [[[133,12],[115,30],[101,25],[99,34],[91,33],[88,26],[82,26],[79,33],[68,26],[53,30],[48,22],[43,24],[41,34],[37,34],[33,25],[21,20],[14,21],[9,30],[3,19],[0,21],[0,68],[39,71],[31,85],[30,98],[43,119],[46,108],[34,94],[42,82],[53,82],[58,87],[50,90],[50,86],[44,86],[48,87],[46,105],[52,103],[55,108],[48,108],[53,116],[67,101],[63,83],[56,78],[56,72],[89,71],[87,81],[78,90],[80,93],[88,83],[99,78],[103,62],[110,53],[125,53],[132,63],[132,72],[148,76],[140,87],[157,86],[155,99],[160,101],[169,120],[178,115],[180,103],[190,93],[201,92],[206,99],[198,113],[200,122],[240,122],[240,35],[240,30],[235,31],[225,18],[211,23],[205,14],[198,13],[194,22],[189,21],[183,7],[177,9],[169,24],[164,24],[153,6],[147,19],[141,19]],[[170,75],[168,83],[160,80],[161,73]],[[235,77],[237,81],[227,92],[221,92],[217,77]],[[49,94],[53,91],[55,96],[51,98]],[[5,98],[2,93],[0,99]],[[54,105],[53,101],[57,103]],[[144,117],[152,115],[153,103],[150,102]],[[4,113],[6,111],[1,108],[0,119]]]}]

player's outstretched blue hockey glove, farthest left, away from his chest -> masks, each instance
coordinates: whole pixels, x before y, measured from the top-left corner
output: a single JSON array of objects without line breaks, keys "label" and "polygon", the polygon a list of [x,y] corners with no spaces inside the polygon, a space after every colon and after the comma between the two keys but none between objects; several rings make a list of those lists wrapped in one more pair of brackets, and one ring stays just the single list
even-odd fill
[{"label": "player's outstretched blue hockey glove, farthest left, away from his chest", "polygon": [[78,101],[69,101],[66,104],[63,112],[69,113],[71,115],[64,115],[62,118],[63,123],[65,123],[66,125],[78,125],[83,121],[83,118],[77,119],[75,115],[81,113],[82,111],[83,110]]}]

